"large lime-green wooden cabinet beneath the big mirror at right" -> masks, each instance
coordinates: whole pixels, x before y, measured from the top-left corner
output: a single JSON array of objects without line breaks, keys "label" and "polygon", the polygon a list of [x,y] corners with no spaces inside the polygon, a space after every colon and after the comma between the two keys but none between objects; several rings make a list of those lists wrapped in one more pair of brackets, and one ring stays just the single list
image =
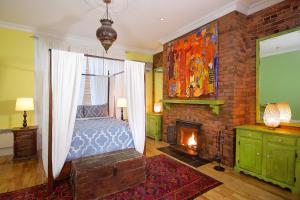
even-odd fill
[{"label": "large lime-green wooden cabinet beneath the big mirror at right", "polygon": [[236,128],[235,170],[290,188],[300,195],[300,130]]}]

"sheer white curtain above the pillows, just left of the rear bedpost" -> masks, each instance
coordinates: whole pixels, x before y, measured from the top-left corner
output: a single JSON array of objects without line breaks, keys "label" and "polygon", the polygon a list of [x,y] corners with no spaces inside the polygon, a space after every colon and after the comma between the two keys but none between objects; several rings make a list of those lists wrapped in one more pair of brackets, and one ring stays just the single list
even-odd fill
[{"label": "sheer white curtain above the pillows, just left of the rear bedpost", "polygon": [[105,68],[105,61],[99,58],[88,58],[90,74],[97,76],[90,77],[92,105],[107,103],[108,96],[108,70]]}]

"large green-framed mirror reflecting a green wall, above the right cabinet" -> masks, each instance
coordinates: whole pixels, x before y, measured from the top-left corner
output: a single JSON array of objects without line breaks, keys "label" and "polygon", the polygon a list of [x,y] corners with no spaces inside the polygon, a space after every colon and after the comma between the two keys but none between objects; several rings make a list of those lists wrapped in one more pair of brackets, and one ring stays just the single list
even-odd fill
[{"label": "large green-framed mirror reflecting a green wall, above the right cabinet", "polygon": [[300,124],[300,28],[257,40],[257,121],[267,103],[288,102]]}]

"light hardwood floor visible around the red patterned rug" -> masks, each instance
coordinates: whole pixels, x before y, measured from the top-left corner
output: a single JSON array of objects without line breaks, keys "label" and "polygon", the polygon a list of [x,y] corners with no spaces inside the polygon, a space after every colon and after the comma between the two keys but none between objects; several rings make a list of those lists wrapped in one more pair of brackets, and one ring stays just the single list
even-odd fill
[{"label": "light hardwood floor visible around the red patterned rug", "polygon": [[[157,148],[167,145],[151,139],[147,139],[146,143],[147,156],[162,154]],[[197,200],[300,200],[300,197],[280,187],[236,173],[231,168],[226,168],[225,172],[217,172],[213,166],[214,163],[210,163],[198,167],[197,170],[224,184],[206,192]],[[46,181],[41,160],[15,162],[11,156],[0,157],[0,193],[31,187]]]}]

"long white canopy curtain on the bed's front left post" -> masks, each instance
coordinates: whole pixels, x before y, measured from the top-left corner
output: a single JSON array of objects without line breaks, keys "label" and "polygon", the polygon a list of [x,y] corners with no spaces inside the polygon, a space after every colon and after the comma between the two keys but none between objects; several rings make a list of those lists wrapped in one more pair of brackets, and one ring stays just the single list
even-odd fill
[{"label": "long white canopy curtain on the bed's front left post", "polygon": [[58,177],[69,153],[80,93],[84,54],[52,50],[52,166]]}]

